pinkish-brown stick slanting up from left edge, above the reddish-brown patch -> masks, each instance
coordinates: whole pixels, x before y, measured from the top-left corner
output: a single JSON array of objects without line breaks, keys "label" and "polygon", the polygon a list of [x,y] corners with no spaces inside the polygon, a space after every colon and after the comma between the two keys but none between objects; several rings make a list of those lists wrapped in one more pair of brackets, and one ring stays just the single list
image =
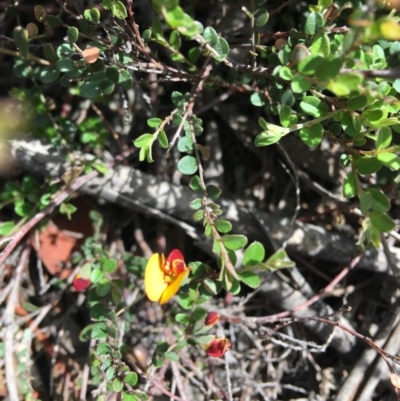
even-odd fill
[{"label": "pinkish-brown stick slanting up from left edge, above the reddish-brown patch", "polygon": [[24,224],[19,231],[13,236],[11,242],[6,246],[4,251],[0,253],[0,266],[2,266],[7,257],[11,254],[14,248],[19,244],[22,238],[33,228],[40,220],[44,217],[50,215],[53,210],[59,206],[65,199],[68,198],[73,192],[77,191],[82,185],[86,184],[88,181],[96,177],[99,173],[97,171],[92,171],[89,174],[86,174],[82,177],[77,178],[72,185],[58,195],[44,210],[37,213],[31,220],[29,220],[26,224]]}]

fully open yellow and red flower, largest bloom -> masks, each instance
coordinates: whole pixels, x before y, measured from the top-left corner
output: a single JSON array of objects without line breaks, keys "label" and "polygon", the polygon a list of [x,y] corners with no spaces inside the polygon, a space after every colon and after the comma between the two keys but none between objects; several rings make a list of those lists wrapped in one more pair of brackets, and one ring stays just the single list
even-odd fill
[{"label": "fully open yellow and red flower, largest bloom", "polygon": [[190,270],[178,249],[172,250],[167,259],[163,254],[155,253],[147,262],[144,272],[147,297],[152,302],[164,305],[179,291]]}]

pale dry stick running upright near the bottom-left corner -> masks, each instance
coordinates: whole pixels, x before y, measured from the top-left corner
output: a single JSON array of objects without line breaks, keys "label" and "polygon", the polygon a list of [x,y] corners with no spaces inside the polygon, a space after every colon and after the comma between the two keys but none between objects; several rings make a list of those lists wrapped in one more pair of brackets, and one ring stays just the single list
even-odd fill
[{"label": "pale dry stick running upright near the bottom-left corner", "polygon": [[8,389],[8,396],[10,400],[19,400],[18,396],[18,385],[17,377],[15,375],[14,366],[14,334],[15,334],[15,322],[14,312],[15,306],[18,303],[18,290],[21,282],[22,272],[26,266],[29,258],[30,248],[25,246],[22,251],[21,258],[19,260],[15,276],[13,278],[13,286],[8,297],[7,306],[4,312],[4,362],[6,367],[6,383]]}]

